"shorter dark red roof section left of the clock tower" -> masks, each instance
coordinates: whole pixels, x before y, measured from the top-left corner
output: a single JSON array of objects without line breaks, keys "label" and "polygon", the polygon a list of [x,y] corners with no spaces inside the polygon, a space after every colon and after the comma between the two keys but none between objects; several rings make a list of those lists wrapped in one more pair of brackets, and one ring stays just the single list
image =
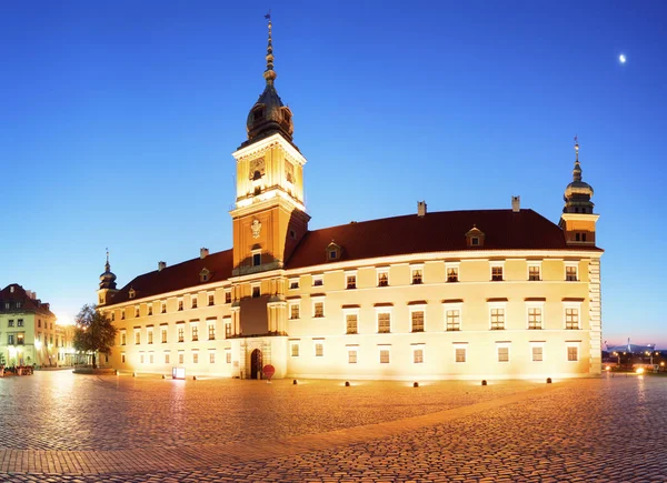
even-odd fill
[{"label": "shorter dark red roof section left of the clock tower", "polygon": [[[232,250],[225,250],[211,253],[203,259],[196,258],[172,266],[167,266],[161,271],[156,270],[145,273],[120,289],[107,305],[132,300],[128,294],[130,289],[135,290],[135,299],[143,299],[145,296],[153,296],[211,282],[220,282],[231,276],[232,264]],[[201,282],[199,273],[205,268],[210,273],[208,280]]]}]

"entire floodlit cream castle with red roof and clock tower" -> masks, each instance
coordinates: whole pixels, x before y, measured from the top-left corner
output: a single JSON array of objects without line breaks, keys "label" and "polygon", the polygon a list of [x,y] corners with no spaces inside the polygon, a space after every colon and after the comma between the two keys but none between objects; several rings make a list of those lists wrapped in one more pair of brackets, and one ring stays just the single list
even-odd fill
[{"label": "entire floodlit cream castle with red roof and clock tower", "polygon": [[427,212],[311,231],[306,158],[266,87],[233,152],[233,244],[132,279],[107,260],[99,310],[120,371],[260,378],[500,379],[600,373],[600,256],[578,144],[558,224],[510,209]]}]

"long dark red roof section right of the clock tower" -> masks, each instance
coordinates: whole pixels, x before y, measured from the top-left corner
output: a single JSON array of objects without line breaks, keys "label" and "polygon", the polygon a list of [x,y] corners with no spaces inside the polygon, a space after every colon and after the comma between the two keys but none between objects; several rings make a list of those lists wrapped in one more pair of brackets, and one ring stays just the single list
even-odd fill
[{"label": "long dark red roof section right of the clock tower", "polygon": [[[484,246],[466,244],[466,233],[474,225],[485,233]],[[310,231],[287,268],[326,263],[325,250],[331,241],[342,248],[341,261],[462,250],[573,250],[565,243],[563,230],[532,210],[441,211]],[[599,250],[576,248],[586,249]]]}]

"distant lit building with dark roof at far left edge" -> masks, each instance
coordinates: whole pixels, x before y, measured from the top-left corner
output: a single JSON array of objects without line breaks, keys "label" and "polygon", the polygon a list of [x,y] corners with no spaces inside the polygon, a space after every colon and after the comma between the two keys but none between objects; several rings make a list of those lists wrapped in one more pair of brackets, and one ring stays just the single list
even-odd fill
[{"label": "distant lit building with dark roof at far left edge", "polygon": [[0,291],[0,353],[6,365],[64,365],[71,332],[56,323],[50,305],[18,283]]}]

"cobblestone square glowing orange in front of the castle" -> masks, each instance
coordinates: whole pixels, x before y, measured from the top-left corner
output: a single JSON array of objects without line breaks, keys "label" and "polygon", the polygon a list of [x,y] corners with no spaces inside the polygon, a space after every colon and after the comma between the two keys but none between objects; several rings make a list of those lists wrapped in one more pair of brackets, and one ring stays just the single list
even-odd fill
[{"label": "cobblestone square glowing orange in front of the castle", "polygon": [[0,481],[667,482],[666,401],[653,376],[414,389],[36,374],[0,380]]}]

